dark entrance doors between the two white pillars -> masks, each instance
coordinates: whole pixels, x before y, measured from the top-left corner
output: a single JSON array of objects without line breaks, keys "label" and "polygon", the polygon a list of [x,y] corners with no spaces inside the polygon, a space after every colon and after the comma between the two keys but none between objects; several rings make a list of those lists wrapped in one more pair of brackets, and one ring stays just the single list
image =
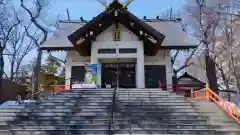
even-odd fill
[{"label": "dark entrance doors between the two white pillars", "polygon": [[135,63],[102,63],[102,87],[136,88]]}]

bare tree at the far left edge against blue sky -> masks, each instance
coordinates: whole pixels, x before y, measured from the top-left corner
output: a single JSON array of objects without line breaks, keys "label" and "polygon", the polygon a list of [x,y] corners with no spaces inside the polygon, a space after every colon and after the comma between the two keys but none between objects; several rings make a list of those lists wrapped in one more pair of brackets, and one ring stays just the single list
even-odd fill
[{"label": "bare tree at the far left edge against blue sky", "polygon": [[4,74],[4,50],[13,42],[14,28],[20,24],[20,19],[14,7],[8,1],[1,1],[0,4],[0,88]]}]

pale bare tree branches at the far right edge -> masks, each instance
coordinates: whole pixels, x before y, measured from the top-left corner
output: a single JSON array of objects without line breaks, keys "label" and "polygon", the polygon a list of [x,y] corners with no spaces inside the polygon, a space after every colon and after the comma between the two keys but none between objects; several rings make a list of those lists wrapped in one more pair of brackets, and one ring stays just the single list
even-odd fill
[{"label": "pale bare tree branches at the far right edge", "polygon": [[[221,13],[222,14],[222,13]],[[219,34],[216,36],[218,44],[216,46],[215,62],[221,74],[220,78],[224,82],[227,90],[239,92],[240,90],[240,65],[239,65],[239,37],[240,18],[236,15],[224,13],[225,20],[219,25]]]}]

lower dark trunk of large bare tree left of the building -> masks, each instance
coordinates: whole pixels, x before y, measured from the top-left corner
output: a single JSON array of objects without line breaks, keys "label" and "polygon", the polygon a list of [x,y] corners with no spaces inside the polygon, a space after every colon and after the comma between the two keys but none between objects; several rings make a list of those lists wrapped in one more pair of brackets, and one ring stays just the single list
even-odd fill
[{"label": "lower dark trunk of large bare tree left of the building", "polygon": [[36,66],[34,68],[34,87],[33,94],[39,91],[39,75],[41,70],[42,50],[38,50]]}]

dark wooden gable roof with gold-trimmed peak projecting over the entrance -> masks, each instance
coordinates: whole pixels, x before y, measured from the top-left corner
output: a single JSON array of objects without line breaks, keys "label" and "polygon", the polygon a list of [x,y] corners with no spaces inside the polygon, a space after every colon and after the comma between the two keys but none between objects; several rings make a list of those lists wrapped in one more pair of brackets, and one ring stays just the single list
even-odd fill
[{"label": "dark wooden gable roof with gold-trimmed peak projecting over the entrance", "polygon": [[[151,53],[153,53],[152,51],[155,51],[156,53],[156,50],[160,48],[160,45],[165,38],[162,33],[134,16],[118,1],[114,1],[105,11],[69,35],[68,39],[77,50],[89,51],[91,49],[91,42],[94,41],[101,32],[115,23],[123,24],[137,35],[139,39],[150,44],[151,46],[149,46],[147,50]],[[82,41],[78,42],[79,39],[82,39]],[[82,54],[84,52],[80,53]]]}]

